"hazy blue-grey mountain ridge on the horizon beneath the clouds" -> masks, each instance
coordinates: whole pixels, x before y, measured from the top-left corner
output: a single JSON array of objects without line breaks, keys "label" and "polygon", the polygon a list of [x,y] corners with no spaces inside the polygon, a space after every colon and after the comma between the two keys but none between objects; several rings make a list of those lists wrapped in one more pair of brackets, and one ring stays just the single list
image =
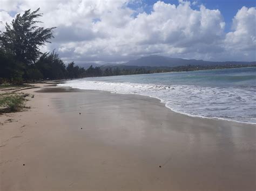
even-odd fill
[{"label": "hazy blue-grey mountain ridge on the horizon beneath the clouds", "polygon": [[209,66],[209,65],[243,65],[243,64],[255,64],[256,62],[240,62],[240,61],[226,61],[226,62],[214,62],[214,61],[204,61],[204,60],[187,60],[181,58],[169,58],[166,56],[159,55],[150,55],[139,58],[137,60],[130,60],[126,63],[107,63],[105,66],[117,66],[117,65],[125,65],[125,66],[150,66],[150,67],[177,67],[177,66]]}]

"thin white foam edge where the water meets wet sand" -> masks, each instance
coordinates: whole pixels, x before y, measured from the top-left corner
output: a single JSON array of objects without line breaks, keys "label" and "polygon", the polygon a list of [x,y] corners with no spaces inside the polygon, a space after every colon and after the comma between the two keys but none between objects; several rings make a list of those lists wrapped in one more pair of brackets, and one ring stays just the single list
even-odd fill
[{"label": "thin white foam edge where the water meets wet sand", "polygon": [[[136,74],[134,74],[136,75]],[[58,86],[58,85],[61,85],[61,84],[65,84],[65,83],[58,83],[56,84],[56,87],[70,87],[72,89],[78,89],[78,90],[84,90],[84,91],[87,91],[87,90],[90,90],[90,89],[79,89],[79,88],[73,88],[71,86]],[[181,115],[185,115],[185,116],[189,116],[189,117],[195,117],[195,118],[202,118],[202,119],[213,119],[213,120],[221,120],[221,121],[228,121],[228,122],[235,122],[235,123],[242,123],[242,124],[249,124],[249,125],[255,125],[255,128],[256,128],[256,123],[250,123],[250,122],[241,122],[241,121],[235,121],[235,120],[232,120],[232,119],[227,119],[227,118],[221,118],[221,117],[204,117],[204,116],[195,116],[195,115],[191,115],[191,114],[187,114],[185,112],[179,112],[179,111],[176,111],[176,110],[173,110],[172,108],[168,107],[165,103],[165,101],[161,100],[160,98],[158,97],[153,97],[153,96],[149,96],[149,95],[142,95],[142,94],[122,94],[122,93],[115,93],[115,92],[112,92],[112,91],[106,91],[106,90],[93,90],[93,91],[105,91],[105,92],[108,92],[108,93],[111,93],[111,94],[120,94],[120,95],[139,95],[139,96],[146,96],[146,97],[150,97],[150,98],[155,98],[157,100],[160,101],[160,103],[163,103],[165,105],[166,108],[170,109],[172,112],[176,112],[177,114],[181,114]]]}]

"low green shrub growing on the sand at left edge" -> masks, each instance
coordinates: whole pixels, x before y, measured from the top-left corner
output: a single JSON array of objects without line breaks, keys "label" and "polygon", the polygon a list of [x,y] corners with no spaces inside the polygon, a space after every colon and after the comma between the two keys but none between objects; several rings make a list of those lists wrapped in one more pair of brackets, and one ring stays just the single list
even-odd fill
[{"label": "low green shrub growing on the sand at left edge", "polygon": [[24,94],[2,94],[0,97],[0,107],[6,107],[7,112],[19,111],[25,106]]}]

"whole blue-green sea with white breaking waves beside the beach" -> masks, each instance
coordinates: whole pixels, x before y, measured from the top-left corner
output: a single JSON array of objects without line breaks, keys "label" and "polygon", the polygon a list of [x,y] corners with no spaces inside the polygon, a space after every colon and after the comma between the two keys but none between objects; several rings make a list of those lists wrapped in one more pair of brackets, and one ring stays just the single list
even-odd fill
[{"label": "whole blue-green sea with white breaking waves beside the beach", "polygon": [[151,96],[182,114],[256,124],[256,67],[90,77],[58,86]]}]

